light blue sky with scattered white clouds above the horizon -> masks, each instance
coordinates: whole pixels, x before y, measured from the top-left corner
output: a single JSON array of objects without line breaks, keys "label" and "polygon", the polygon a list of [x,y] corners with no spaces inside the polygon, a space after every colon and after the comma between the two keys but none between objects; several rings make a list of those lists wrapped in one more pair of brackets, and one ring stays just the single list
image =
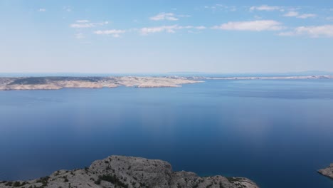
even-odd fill
[{"label": "light blue sky with scattered white clouds above the horizon", "polygon": [[333,1],[0,0],[0,73],[333,72]]}]

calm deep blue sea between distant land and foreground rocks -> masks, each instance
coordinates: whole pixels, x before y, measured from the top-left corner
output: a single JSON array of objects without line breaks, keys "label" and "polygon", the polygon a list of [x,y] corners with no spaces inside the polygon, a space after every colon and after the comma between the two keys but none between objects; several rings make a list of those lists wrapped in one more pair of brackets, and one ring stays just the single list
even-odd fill
[{"label": "calm deep blue sea between distant land and foreground rocks", "polygon": [[332,188],[316,170],[333,162],[333,80],[0,92],[0,179],[108,155],[249,177],[263,188]]}]

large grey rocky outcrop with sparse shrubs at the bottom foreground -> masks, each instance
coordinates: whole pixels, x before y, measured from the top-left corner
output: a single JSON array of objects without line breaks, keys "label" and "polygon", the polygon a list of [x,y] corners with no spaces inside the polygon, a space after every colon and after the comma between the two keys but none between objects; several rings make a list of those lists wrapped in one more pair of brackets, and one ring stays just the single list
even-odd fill
[{"label": "large grey rocky outcrop with sparse shrubs at the bottom foreground", "polygon": [[173,172],[162,160],[111,156],[97,160],[85,169],[58,170],[48,177],[30,181],[0,182],[0,187],[150,187],[150,188],[257,188],[243,177],[198,177],[194,172]]}]

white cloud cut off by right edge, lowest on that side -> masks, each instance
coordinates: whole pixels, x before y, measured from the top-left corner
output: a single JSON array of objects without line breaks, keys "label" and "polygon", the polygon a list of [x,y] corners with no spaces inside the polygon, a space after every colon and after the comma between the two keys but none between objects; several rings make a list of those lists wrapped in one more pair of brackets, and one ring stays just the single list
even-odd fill
[{"label": "white cloud cut off by right edge, lowest on that side", "polygon": [[280,36],[310,36],[312,38],[333,38],[333,25],[324,26],[300,26],[293,31],[279,33]]}]

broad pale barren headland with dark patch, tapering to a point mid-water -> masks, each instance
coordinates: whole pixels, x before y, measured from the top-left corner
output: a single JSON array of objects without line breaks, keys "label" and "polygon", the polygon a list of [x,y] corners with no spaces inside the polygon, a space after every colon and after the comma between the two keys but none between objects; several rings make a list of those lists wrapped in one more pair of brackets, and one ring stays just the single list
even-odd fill
[{"label": "broad pale barren headland with dark patch, tapering to a point mid-water", "polygon": [[22,77],[0,78],[0,90],[58,90],[62,88],[116,88],[120,85],[137,88],[180,87],[200,83],[184,77]]}]

